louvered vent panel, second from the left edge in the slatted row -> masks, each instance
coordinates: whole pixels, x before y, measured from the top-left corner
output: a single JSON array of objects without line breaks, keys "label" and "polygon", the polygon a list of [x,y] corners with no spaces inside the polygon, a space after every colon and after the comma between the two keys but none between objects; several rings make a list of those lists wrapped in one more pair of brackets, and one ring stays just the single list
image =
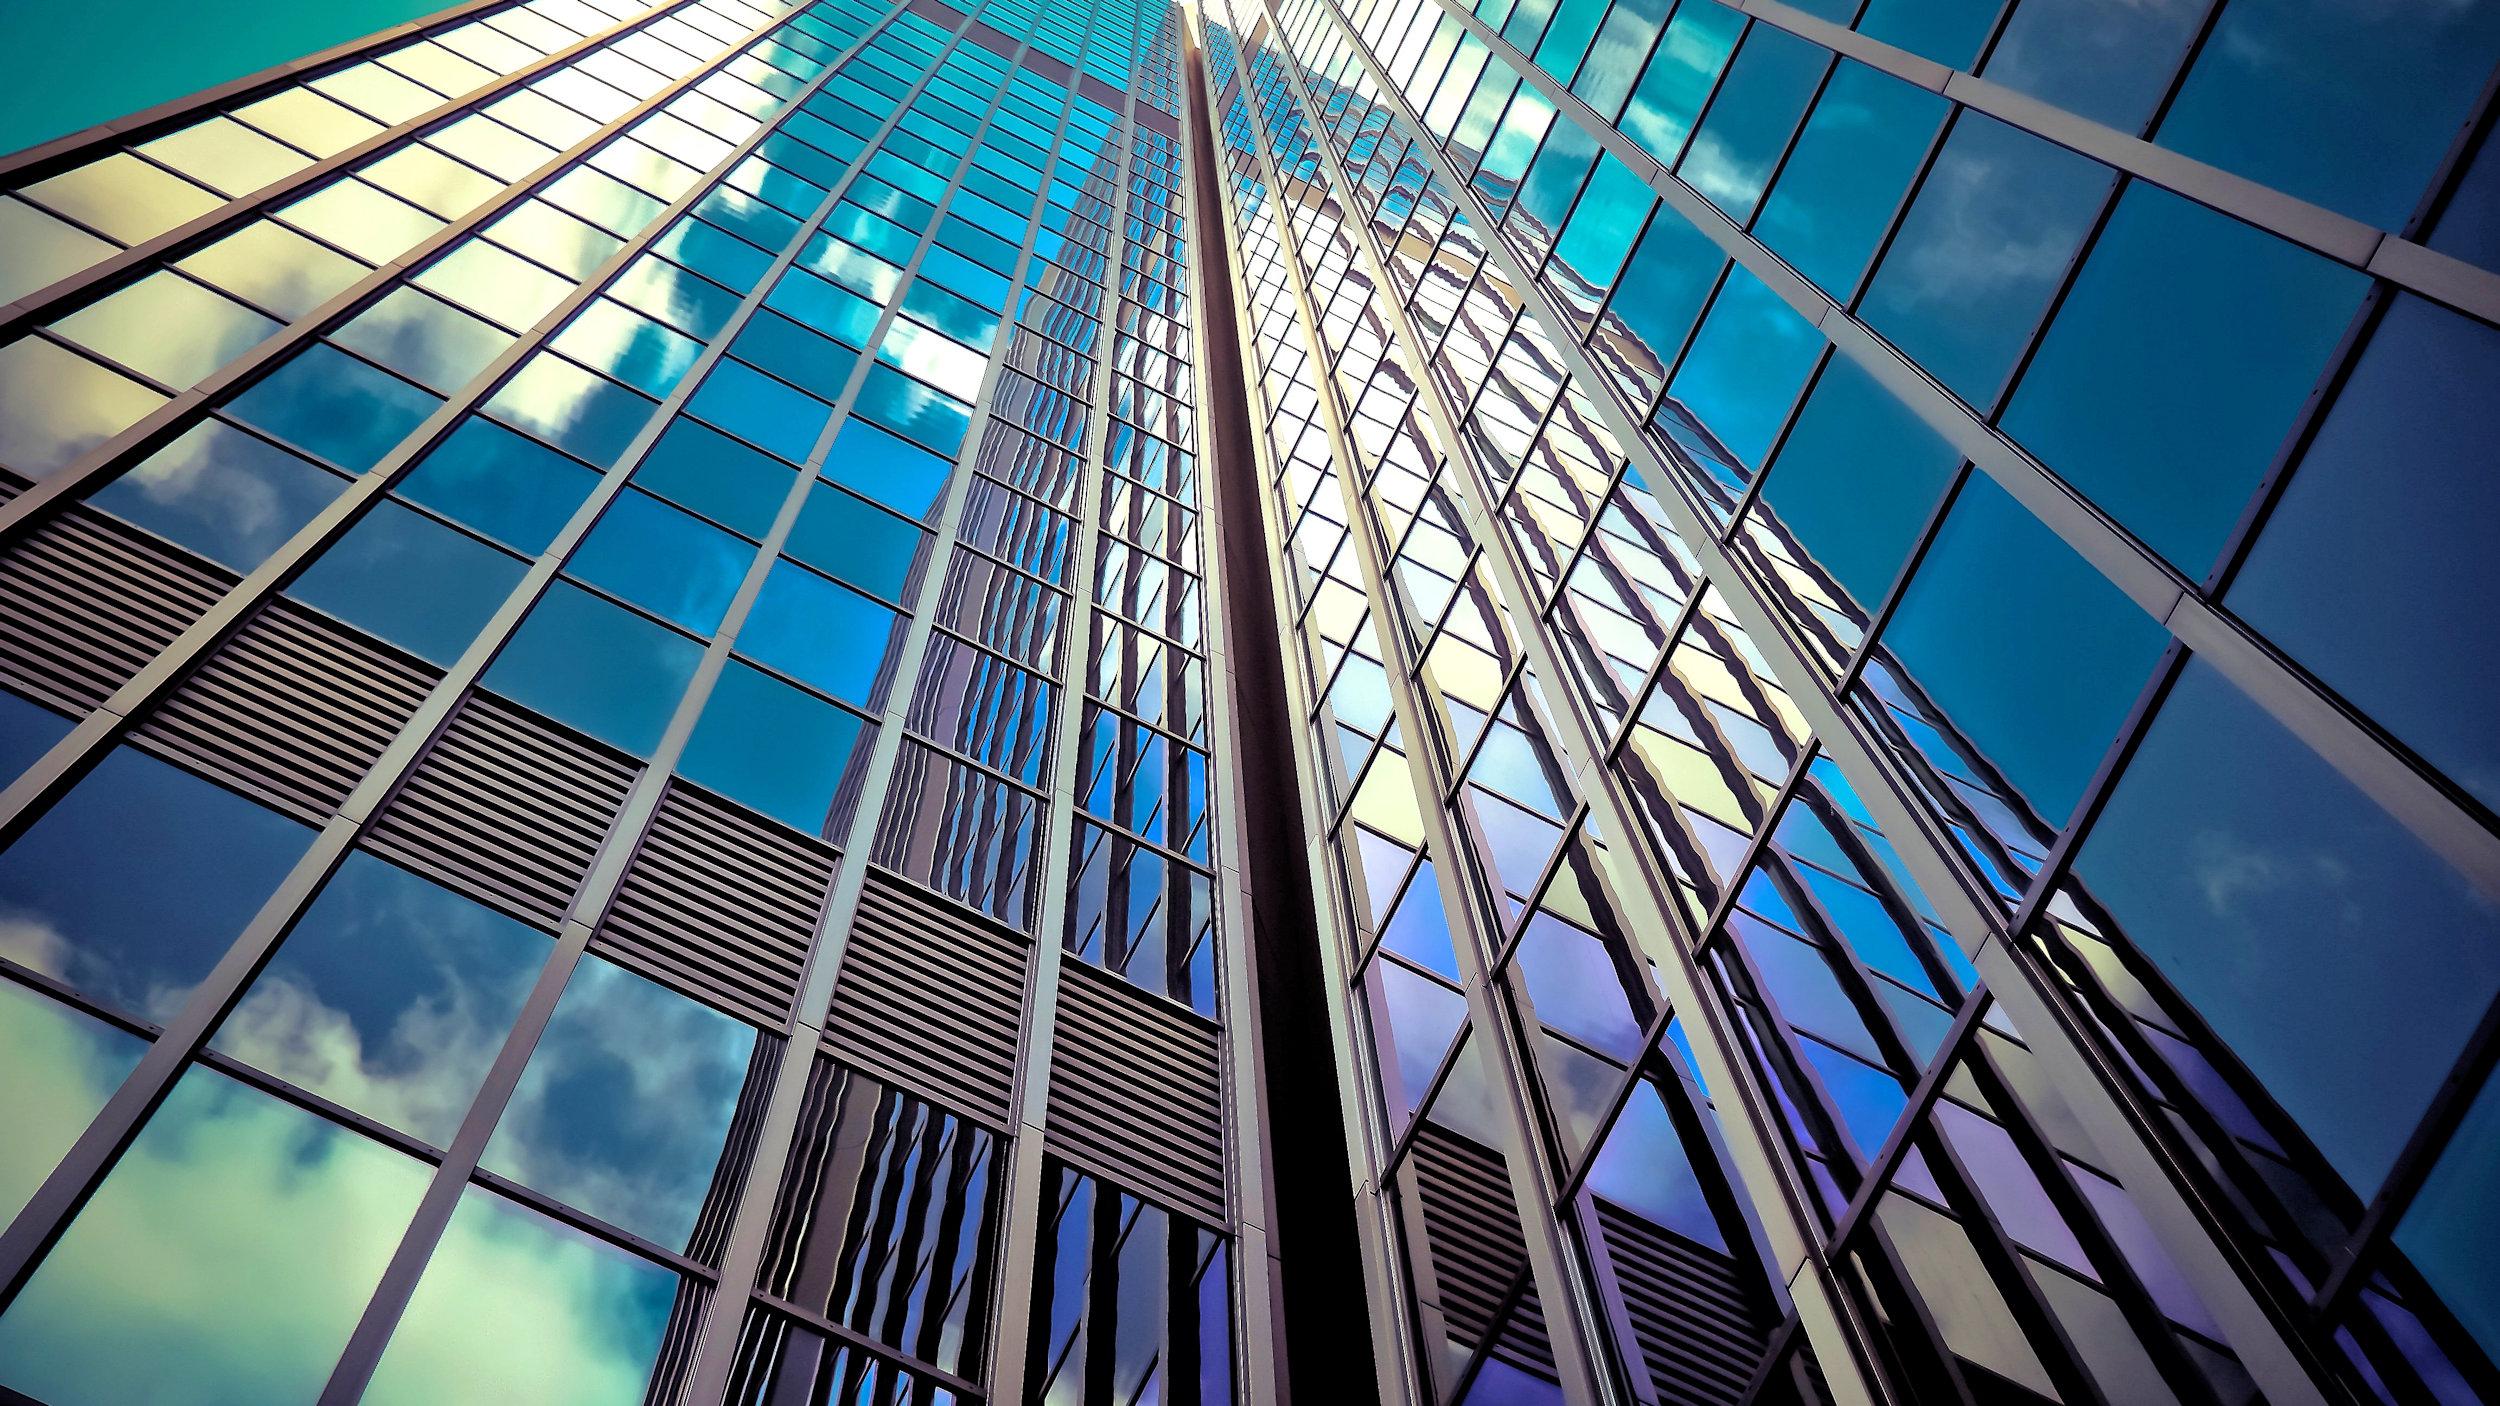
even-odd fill
[{"label": "louvered vent panel, second from the left edge in the slatted row", "polygon": [[275,600],[150,713],[138,741],[310,821],[355,791],[442,678]]}]

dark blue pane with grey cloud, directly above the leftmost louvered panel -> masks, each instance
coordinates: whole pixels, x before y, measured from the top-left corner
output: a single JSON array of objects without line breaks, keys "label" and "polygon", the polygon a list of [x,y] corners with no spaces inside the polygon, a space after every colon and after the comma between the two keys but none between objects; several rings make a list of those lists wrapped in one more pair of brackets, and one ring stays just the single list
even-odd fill
[{"label": "dark blue pane with grey cloud, directly above the leftmost louvered panel", "polygon": [[88,503],[240,573],[270,560],[348,480],[232,425],[202,420]]}]

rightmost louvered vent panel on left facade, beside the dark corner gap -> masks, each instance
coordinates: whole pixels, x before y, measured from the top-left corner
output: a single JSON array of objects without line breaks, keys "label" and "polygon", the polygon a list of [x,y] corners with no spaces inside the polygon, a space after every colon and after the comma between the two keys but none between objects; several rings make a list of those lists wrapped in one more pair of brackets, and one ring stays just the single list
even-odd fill
[{"label": "rightmost louvered vent panel on left facade, beside the dark corner gap", "polygon": [[1215,1031],[1070,961],[1050,1048],[1050,1151],[1225,1223],[1225,1101]]}]

